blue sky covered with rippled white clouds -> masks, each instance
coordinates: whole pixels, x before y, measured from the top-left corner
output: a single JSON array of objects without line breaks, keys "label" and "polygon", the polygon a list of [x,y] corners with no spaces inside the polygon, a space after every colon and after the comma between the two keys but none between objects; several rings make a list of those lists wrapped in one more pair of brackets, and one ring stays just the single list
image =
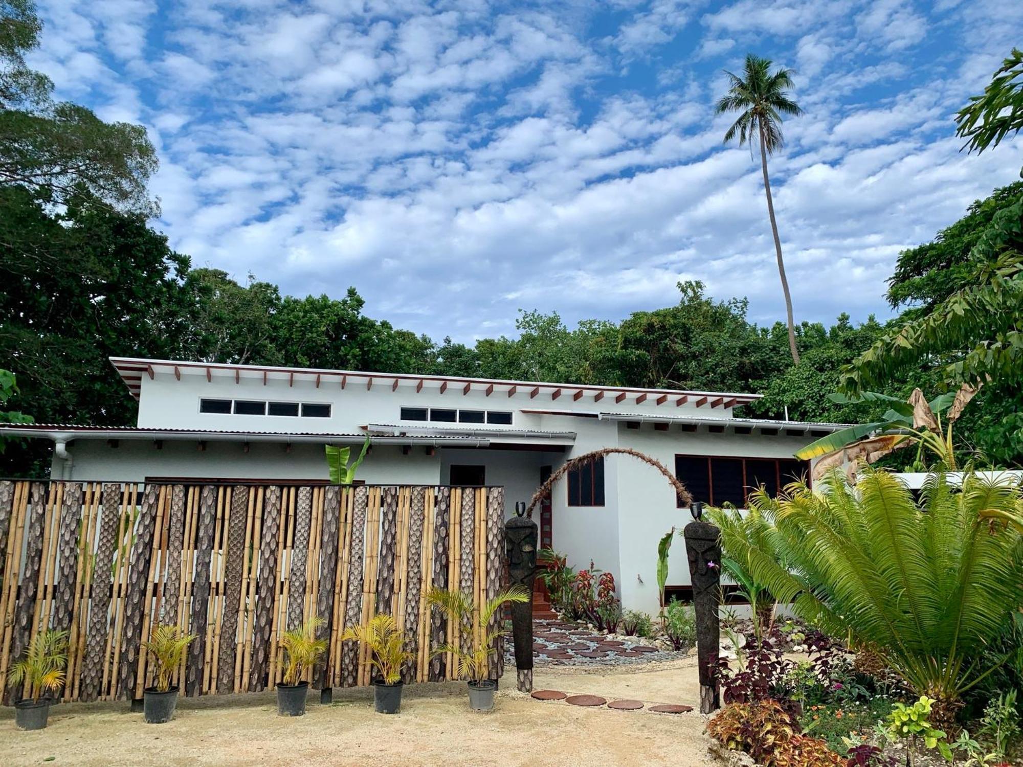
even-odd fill
[{"label": "blue sky covered with rippled white clouds", "polygon": [[1014,44],[1006,0],[40,0],[33,63],[141,123],[155,225],[196,266],[344,295],[436,339],[677,300],[783,317],[759,165],[713,115],[748,51],[797,71],[771,160],[797,320],[888,316],[898,252],[1015,180],[952,115]]}]

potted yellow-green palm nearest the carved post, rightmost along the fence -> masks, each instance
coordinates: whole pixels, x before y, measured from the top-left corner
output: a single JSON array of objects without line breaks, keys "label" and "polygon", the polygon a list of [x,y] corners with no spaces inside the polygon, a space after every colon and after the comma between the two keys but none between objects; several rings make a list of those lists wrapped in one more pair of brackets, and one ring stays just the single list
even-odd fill
[{"label": "potted yellow-green palm nearest the carved post, rightmost along the fence", "polygon": [[490,711],[494,708],[494,690],[497,683],[488,678],[490,657],[497,651],[497,639],[504,635],[500,621],[494,615],[504,602],[529,601],[530,595],[521,586],[504,589],[486,604],[478,606],[471,594],[462,591],[434,588],[428,595],[428,603],[434,605],[454,621],[466,639],[468,649],[460,643],[442,644],[434,650],[435,656],[450,652],[455,659],[454,676],[469,680],[469,707],[474,711]]}]

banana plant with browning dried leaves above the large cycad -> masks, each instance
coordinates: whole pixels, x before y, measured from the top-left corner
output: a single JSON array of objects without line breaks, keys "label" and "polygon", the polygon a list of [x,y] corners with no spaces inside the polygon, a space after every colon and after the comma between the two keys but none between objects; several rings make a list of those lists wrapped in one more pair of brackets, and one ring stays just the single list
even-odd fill
[{"label": "banana plant with browning dried leaves above the large cycad", "polygon": [[[860,465],[874,463],[894,450],[917,446],[915,465],[926,465],[925,453],[930,453],[949,471],[957,470],[952,449],[952,422],[974,398],[980,387],[964,384],[959,391],[946,392],[930,402],[920,389],[913,390],[905,402],[879,392],[862,392],[855,397],[830,394],[828,399],[838,404],[884,402],[889,409],[882,420],[849,426],[812,442],[796,453],[800,460],[819,458],[813,466],[813,479],[819,480],[829,469],[848,463],[850,480]],[[945,414],[945,426],[941,414]]]}]

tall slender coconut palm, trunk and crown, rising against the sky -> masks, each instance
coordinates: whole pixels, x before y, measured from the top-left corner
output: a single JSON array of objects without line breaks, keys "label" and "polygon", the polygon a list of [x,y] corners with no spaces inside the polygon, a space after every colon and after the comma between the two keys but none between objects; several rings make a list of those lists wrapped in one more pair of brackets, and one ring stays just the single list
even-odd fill
[{"label": "tall slender coconut palm, trunk and crown, rising against the sky", "polygon": [[777,256],[777,273],[782,277],[782,291],[785,294],[785,308],[789,320],[789,349],[792,361],[799,364],[799,350],[796,348],[796,328],[792,319],[792,296],[789,280],[785,276],[785,262],[782,259],[782,240],[777,236],[777,221],[774,219],[774,200],[770,194],[770,179],[767,177],[767,155],[782,148],[782,116],[793,117],[803,114],[799,104],[789,98],[792,88],[792,70],[781,69],[770,72],[769,58],[761,58],[752,53],[746,55],[743,77],[725,70],[728,76],[728,92],[717,102],[718,115],[739,112],[739,119],[724,134],[725,143],[739,136],[739,145],[760,145],[760,168],[764,174],[764,192],[767,195],[767,216],[774,235],[774,253]]}]

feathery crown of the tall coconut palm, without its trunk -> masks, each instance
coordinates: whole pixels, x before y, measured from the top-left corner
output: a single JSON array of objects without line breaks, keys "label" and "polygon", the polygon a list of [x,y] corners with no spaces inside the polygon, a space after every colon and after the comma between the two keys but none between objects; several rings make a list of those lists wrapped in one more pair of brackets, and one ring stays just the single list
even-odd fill
[{"label": "feathery crown of the tall coconut palm, without its trunk", "polygon": [[716,112],[725,115],[740,112],[739,119],[724,134],[724,141],[732,141],[739,136],[739,145],[750,147],[762,141],[768,154],[773,154],[785,144],[782,135],[782,116],[799,117],[803,114],[799,104],[788,96],[793,87],[792,70],[781,69],[771,74],[769,58],[746,56],[743,77],[727,70],[728,92],[718,99]]}]

